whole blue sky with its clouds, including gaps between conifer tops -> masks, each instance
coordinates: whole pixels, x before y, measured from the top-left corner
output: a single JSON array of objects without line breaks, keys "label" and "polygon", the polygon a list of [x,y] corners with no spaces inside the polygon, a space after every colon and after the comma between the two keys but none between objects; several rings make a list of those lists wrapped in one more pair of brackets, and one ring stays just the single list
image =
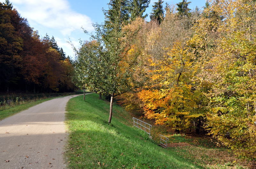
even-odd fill
[{"label": "whole blue sky with its clouds, including gaps between conifer tops", "polygon": [[[110,0],[10,0],[21,17],[27,18],[29,25],[38,30],[44,37],[47,33],[54,36],[59,47],[63,48],[66,55],[74,58],[72,47],[67,43],[69,39],[79,47],[79,39],[89,40],[81,27],[88,32],[93,31],[92,23],[104,22],[102,8],[108,9]],[[144,13],[152,11],[152,5],[158,0],[151,0]],[[165,3],[177,4],[182,0],[165,0]],[[190,0],[189,8],[203,7],[205,0]],[[148,19],[149,20],[149,19]]]}]

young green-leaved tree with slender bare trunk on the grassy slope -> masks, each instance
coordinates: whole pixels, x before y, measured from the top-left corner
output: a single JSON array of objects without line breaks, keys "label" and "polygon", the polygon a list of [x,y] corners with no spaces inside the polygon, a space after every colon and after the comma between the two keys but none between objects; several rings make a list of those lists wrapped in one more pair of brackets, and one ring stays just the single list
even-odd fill
[{"label": "young green-leaved tree with slender bare trunk on the grassy slope", "polygon": [[[113,2],[122,7],[121,1]],[[114,9],[116,7],[109,4],[105,24],[93,25],[96,32],[91,35],[92,40],[82,42],[78,50],[74,48],[79,81],[84,81],[92,90],[111,96],[108,123],[112,119],[113,98],[136,87],[131,70],[134,65],[126,60],[129,46],[124,43],[121,32],[124,15]]]}]

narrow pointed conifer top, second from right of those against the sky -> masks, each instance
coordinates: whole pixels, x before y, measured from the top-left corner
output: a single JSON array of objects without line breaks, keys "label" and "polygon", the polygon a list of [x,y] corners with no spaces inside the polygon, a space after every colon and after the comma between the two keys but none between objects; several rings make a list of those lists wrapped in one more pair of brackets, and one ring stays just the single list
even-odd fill
[{"label": "narrow pointed conifer top, second from right of those against the sky", "polygon": [[164,9],[163,9],[163,4],[164,1],[162,0],[158,0],[158,2],[155,2],[154,4],[155,5],[152,5],[153,6],[153,13],[150,13],[150,19],[153,20],[153,19],[156,19],[158,21],[159,24],[161,24],[163,18],[164,18]]}]

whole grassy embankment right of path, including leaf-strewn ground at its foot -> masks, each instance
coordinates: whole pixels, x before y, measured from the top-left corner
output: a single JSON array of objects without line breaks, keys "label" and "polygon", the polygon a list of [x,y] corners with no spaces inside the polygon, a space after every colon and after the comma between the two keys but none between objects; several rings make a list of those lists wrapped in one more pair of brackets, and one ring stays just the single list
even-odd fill
[{"label": "whole grassy embankment right of path, including leaf-strewn ground at its foot", "polygon": [[[69,168],[247,169],[253,165],[235,158],[231,150],[217,148],[209,137],[168,136],[170,132],[162,126],[153,125],[155,140],[150,141],[144,131],[132,127],[133,115],[116,104],[109,125],[109,102],[97,94],[86,95],[85,101],[83,96],[72,98],[67,111]],[[168,136],[171,145],[186,142],[189,146],[162,148],[157,145],[158,133]]]}]

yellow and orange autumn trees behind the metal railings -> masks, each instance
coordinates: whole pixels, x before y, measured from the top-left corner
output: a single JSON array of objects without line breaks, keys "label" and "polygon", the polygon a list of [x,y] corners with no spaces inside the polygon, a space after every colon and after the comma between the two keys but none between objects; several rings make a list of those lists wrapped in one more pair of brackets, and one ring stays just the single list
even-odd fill
[{"label": "yellow and orange autumn trees behind the metal railings", "polygon": [[176,132],[208,132],[255,159],[255,12],[255,1],[219,0],[189,15],[167,6],[161,25],[130,22],[127,57],[137,58],[134,78],[148,81],[119,102]]}]

